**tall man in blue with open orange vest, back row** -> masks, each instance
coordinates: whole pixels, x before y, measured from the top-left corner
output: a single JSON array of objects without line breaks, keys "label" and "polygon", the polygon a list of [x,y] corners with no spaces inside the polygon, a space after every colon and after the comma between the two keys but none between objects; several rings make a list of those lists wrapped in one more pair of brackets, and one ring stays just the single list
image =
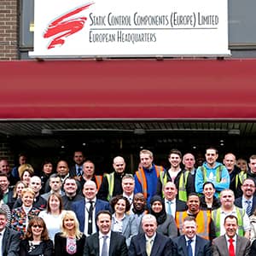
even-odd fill
[{"label": "tall man in blue with open orange vest, back row", "polygon": [[153,164],[153,153],[147,149],[140,152],[140,166],[134,175],[135,189],[134,193],[143,193],[148,202],[153,195],[156,194],[157,179],[160,177],[160,172],[164,172],[163,166]]}]

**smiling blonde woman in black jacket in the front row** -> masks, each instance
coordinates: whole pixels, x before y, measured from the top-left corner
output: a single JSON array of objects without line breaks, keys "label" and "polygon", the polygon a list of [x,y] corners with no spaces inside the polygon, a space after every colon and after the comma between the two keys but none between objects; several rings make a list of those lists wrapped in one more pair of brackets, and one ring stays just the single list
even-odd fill
[{"label": "smiling blonde woman in black jacket in the front row", "polygon": [[67,211],[62,216],[61,232],[55,234],[56,256],[82,256],[85,236],[79,231],[79,221],[73,211]]}]

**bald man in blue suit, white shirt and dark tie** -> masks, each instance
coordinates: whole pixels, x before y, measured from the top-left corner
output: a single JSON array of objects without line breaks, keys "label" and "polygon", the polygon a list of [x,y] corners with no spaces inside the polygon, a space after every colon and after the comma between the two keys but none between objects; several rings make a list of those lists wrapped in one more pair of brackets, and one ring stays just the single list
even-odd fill
[{"label": "bald man in blue suit, white shirt and dark tie", "polygon": [[[79,219],[80,231],[85,236],[90,236],[96,232],[96,215],[101,210],[109,210],[109,203],[96,199],[97,189],[96,183],[89,180],[84,183],[84,200],[75,201],[72,205],[73,212],[76,213]],[[84,220],[85,224],[84,224]]]}]

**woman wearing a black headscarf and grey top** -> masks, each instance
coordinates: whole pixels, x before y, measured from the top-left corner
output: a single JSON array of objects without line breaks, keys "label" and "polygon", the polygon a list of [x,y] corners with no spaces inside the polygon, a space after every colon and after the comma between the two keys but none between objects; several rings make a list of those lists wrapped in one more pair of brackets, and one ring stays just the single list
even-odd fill
[{"label": "woman wearing a black headscarf and grey top", "polygon": [[[166,213],[165,202],[160,195],[154,195],[150,200],[150,214],[154,215],[157,222],[157,231],[171,238],[177,236],[177,225],[172,215]],[[141,231],[140,231],[141,232]]]}]

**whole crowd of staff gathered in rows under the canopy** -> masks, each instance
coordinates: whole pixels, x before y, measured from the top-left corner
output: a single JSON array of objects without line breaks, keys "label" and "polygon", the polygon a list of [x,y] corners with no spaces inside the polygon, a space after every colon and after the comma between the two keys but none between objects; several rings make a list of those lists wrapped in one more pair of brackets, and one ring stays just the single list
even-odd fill
[{"label": "whole crowd of staff gathered in rows under the canopy", "polygon": [[134,174],[117,156],[103,176],[82,151],[73,160],[40,175],[24,155],[13,170],[0,160],[0,256],[255,255],[256,155],[220,163],[207,148],[196,167],[172,149],[166,169],[143,149]]}]

